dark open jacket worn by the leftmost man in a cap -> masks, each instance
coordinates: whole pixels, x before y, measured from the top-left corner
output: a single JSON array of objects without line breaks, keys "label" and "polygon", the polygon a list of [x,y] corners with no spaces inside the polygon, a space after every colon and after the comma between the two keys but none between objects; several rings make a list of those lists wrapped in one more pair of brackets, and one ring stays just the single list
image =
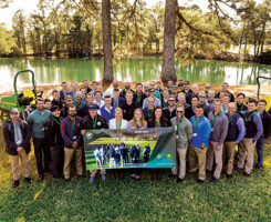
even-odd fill
[{"label": "dark open jacket worn by the leftmost man in a cap", "polygon": [[[22,133],[22,144],[21,147],[24,148],[25,152],[30,152],[30,138],[31,138],[31,131],[28,127],[28,123],[25,121],[19,120],[19,127]],[[14,142],[14,127],[11,120],[7,120],[4,122],[3,127],[3,137],[4,141],[7,143],[7,152],[10,155],[18,155],[17,148],[18,145]]]}]

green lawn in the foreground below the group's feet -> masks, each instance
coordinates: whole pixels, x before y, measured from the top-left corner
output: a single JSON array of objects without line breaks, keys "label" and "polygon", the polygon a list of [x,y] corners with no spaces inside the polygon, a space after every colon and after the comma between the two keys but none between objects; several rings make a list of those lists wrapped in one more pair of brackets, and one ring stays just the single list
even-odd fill
[{"label": "green lawn in the foreground below the group's feet", "polygon": [[[177,184],[168,179],[168,170],[156,182],[131,181],[128,171],[124,180],[114,180],[107,171],[105,183],[96,179],[90,185],[76,176],[65,183],[46,175],[31,185],[21,180],[12,190],[3,147],[0,157],[0,221],[271,221],[271,145],[265,149],[264,169],[253,170],[253,176],[234,171],[230,181],[222,174],[217,184],[201,185],[195,174]],[[30,164],[37,180],[32,152]]]}]

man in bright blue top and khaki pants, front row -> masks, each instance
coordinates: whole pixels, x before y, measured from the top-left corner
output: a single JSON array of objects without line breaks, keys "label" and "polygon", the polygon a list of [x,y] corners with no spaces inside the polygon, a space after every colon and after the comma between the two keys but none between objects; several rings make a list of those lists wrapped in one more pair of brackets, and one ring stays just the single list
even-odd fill
[{"label": "man in bright blue top and khaki pants, front row", "polygon": [[204,117],[204,107],[197,105],[195,110],[196,115],[190,119],[192,124],[192,141],[189,152],[189,172],[197,172],[199,168],[198,183],[204,183],[206,179],[206,152],[211,133],[211,124]]}]

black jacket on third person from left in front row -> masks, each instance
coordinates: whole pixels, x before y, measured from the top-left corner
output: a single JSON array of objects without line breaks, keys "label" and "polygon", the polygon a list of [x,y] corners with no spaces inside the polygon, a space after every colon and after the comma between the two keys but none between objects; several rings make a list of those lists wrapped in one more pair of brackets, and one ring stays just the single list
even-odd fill
[{"label": "black jacket on third person from left in front row", "polygon": [[[59,123],[61,123],[62,118],[61,119],[55,118],[55,120]],[[46,138],[48,145],[50,148],[55,147],[55,145],[61,145],[61,147],[64,145],[64,141],[61,135],[61,128],[58,122],[55,122],[51,115],[44,125],[45,138]]]}]

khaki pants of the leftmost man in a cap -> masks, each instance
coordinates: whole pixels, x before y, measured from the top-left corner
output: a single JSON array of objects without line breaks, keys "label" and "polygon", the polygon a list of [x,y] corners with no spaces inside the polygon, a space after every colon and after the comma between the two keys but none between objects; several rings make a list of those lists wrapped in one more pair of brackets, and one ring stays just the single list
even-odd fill
[{"label": "khaki pants of the leftmost man in a cap", "polygon": [[13,173],[13,180],[20,180],[19,159],[21,160],[23,176],[29,178],[30,176],[29,157],[25,150],[22,149],[21,152],[18,152],[18,155],[9,155],[9,157],[10,157],[10,162],[11,162],[11,168]]}]

